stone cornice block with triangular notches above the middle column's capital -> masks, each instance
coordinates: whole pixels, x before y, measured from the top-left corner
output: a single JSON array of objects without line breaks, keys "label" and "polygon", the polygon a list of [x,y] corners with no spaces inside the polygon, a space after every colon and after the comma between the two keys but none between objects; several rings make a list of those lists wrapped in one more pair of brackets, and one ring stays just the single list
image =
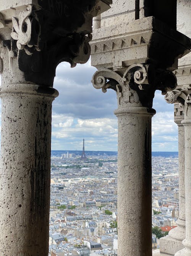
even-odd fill
[{"label": "stone cornice block with triangular notches above the middle column's capital", "polygon": [[178,58],[189,53],[190,48],[187,36],[147,17],[95,29],[91,62],[98,69],[121,70],[134,63],[153,63],[160,70],[173,71],[178,67]]}]

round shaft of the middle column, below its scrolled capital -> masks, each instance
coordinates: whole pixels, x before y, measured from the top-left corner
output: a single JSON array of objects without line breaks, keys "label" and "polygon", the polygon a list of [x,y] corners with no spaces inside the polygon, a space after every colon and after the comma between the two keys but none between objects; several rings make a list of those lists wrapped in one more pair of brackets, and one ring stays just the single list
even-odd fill
[{"label": "round shaft of the middle column, below its scrolled capital", "polygon": [[151,117],[129,107],[118,117],[118,255],[152,255]]}]

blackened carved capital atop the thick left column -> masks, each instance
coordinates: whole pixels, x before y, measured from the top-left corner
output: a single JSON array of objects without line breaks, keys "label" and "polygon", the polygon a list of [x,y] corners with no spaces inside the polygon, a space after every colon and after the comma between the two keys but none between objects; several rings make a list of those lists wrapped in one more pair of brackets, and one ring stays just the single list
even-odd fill
[{"label": "blackened carved capital atop the thick left column", "polygon": [[[71,67],[87,62],[92,18],[107,10],[110,3],[47,0],[20,7],[16,4],[0,13],[1,52],[10,53],[11,66],[18,65],[25,81],[52,86],[60,62],[67,61]],[[0,60],[2,75],[7,73],[4,60]]]}]

